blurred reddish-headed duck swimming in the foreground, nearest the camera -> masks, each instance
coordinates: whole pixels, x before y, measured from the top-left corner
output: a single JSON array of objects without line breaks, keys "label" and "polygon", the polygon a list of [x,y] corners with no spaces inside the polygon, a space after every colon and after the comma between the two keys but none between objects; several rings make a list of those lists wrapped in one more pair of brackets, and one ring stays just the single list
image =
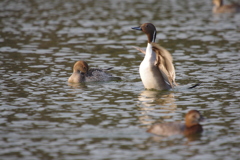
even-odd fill
[{"label": "blurred reddish-headed duck swimming in the foreground, nearest the camera", "polygon": [[185,135],[190,136],[203,132],[203,127],[199,124],[204,117],[198,110],[190,110],[185,116],[185,123],[167,122],[152,125],[147,132],[158,136]]}]

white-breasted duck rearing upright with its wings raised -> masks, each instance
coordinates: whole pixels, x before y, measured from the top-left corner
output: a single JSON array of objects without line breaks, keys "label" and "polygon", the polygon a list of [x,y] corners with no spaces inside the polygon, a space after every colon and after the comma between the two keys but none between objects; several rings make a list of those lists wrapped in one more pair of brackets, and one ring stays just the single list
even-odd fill
[{"label": "white-breasted duck rearing upright with its wings raised", "polygon": [[155,43],[157,31],[152,23],[144,23],[132,29],[143,31],[148,37],[146,51],[135,47],[145,54],[139,72],[146,89],[168,90],[177,86],[175,69],[171,54]]}]

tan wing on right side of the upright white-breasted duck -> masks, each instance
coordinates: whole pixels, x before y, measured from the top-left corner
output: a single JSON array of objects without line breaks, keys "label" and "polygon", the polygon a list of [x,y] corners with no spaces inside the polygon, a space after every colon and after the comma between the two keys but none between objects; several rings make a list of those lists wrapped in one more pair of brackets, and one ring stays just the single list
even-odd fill
[{"label": "tan wing on right side of the upright white-breasted duck", "polygon": [[158,66],[159,71],[162,73],[164,81],[169,84],[172,88],[177,86],[175,82],[175,69],[172,63],[171,54],[159,46],[156,43],[152,43],[153,51],[156,53],[156,66]]}]

